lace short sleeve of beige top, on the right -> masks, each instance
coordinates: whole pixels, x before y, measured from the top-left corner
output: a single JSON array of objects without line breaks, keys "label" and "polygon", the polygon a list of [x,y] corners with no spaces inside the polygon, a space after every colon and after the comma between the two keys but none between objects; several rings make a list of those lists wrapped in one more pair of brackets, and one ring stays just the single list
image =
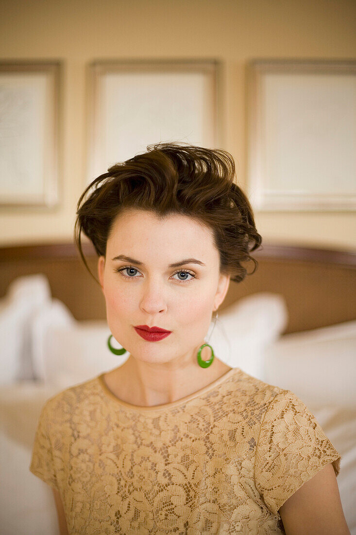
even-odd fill
[{"label": "lace short sleeve of beige top, on the right", "polygon": [[328,463],[338,476],[340,460],[303,401],[289,390],[277,394],[261,424],[254,467],[256,488],[272,513]]}]

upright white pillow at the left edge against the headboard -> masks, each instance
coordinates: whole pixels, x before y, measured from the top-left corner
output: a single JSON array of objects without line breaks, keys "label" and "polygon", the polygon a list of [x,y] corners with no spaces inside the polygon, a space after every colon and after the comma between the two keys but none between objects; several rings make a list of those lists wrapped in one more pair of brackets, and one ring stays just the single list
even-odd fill
[{"label": "upright white pillow at the left edge against the headboard", "polygon": [[14,279],[0,301],[0,384],[33,379],[30,322],[51,299],[47,277],[42,273]]}]

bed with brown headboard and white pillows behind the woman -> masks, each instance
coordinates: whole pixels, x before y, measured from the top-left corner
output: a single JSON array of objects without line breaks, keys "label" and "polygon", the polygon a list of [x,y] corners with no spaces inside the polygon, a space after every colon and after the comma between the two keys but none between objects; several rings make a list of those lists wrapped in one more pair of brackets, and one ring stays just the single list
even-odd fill
[{"label": "bed with brown headboard and white pillows behind the woman", "polygon": [[[83,250],[97,278],[94,248]],[[230,283],[210,343],[313,412],[342,455],[337,481],[356,535],[356,252],[264,242],[254,258],[257,270]],[[4,535],[55,535],[52,491],[29,472],[40,410],[127,356],[106,347],[104,297],[74,244],[3,247],[0,266],[0,525]]]}]

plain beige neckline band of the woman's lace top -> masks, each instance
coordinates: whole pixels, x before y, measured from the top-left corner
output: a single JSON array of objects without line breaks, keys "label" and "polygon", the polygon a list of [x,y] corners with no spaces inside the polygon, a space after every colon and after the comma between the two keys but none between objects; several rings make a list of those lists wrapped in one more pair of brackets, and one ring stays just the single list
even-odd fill
[{"label": "plain beige neckline band of the woman's lace top", "polygon": [[110,399],[117,402],[119,405],[122,405],[123,407],[126,407],[128,409],[136,410],[140,412],[154,412],[156,410],[170,409],[170,408],[182,405],[184,403],[187,403],[188,401],[197,398],[199,395],[205,394],[209,390],[212,390],[213,388],[215,388],[215,386],[220,385],[221,383],[223,383],[223,381],[225,381],[226,379],[229,379],[231,376],[233,376],[237,372],[241,372],[241,369],[231,368],[231,370],[224,373],[221,377],[218,377],[218,379],[215,379],[215,381],[213,381],[212,383],[204,386],[203,388],[200,388],[199,390],[197,390],[196,392],[193,392],[192,394],[188,394],[187,396],[184,396],[183,398],[176,400],[176,401],[172,401],[170,403],[162,403],[160,405],[154,405],[152,407],[133,405],[132,403],[128,403],[127,401],[123,401],[120,398],[118,398],[105,383],[104,375],[106,372],[100,373],[100,375],[98,375],[96,379],[98,381],[100,388],[104,392],[104,394],[109,396]]}]

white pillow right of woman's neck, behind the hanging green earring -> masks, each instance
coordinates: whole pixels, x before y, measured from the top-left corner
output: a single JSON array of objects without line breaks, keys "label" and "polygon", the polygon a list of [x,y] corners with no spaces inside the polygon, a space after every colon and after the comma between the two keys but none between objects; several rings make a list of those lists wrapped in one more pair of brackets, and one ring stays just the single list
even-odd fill
[{"label": "white pillow right of woman's neck, behind the hanging green earring", "polygon": [[258,292],[242,297],[219,313],[208,343],[231,368],[241,368],[264,380],[264,349],[280,337],[287,323],[284,297]]}]

